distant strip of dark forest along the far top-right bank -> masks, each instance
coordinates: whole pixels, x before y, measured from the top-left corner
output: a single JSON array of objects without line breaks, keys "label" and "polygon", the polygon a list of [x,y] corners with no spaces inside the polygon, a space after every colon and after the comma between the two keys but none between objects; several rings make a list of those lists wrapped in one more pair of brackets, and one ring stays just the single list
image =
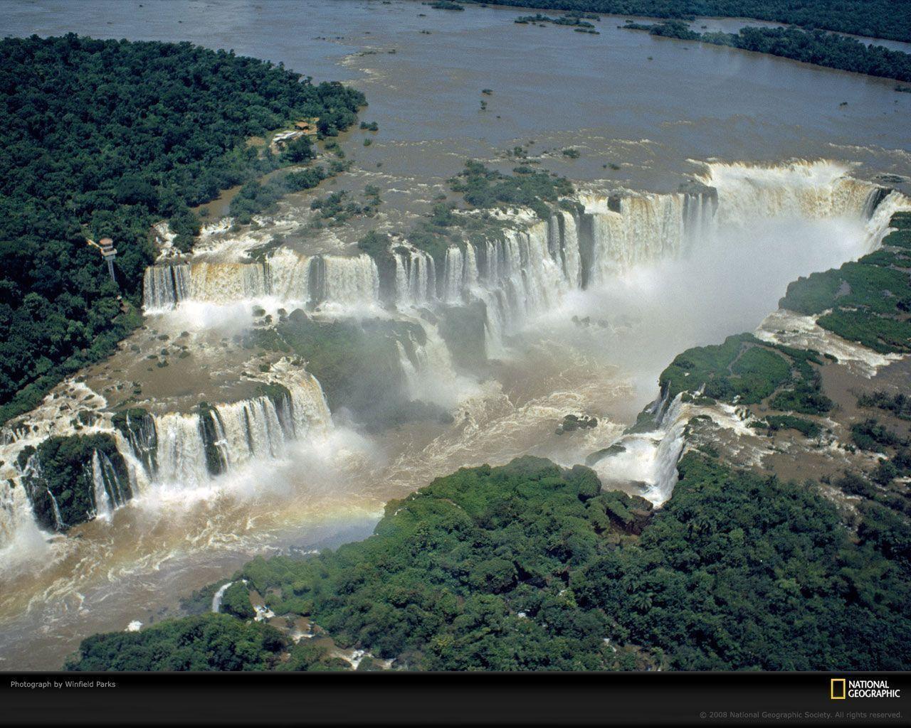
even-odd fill
[{"label": "distant strip of dark forest along the far top-right bank", "polygon": [[911,3],[894,0],[497,0],[497,5],[667,18],[752,17],[911,42]]}]

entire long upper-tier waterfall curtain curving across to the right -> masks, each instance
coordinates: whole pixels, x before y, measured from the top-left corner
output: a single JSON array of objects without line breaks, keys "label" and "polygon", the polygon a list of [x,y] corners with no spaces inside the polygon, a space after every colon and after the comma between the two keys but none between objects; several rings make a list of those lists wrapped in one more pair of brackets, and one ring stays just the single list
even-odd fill
[{"label": "entire long upper-tier waterfall curtain curving across to the right", "polygon": [[[881,238],[875,221],[887,221],[902,196],[856,180],[849,171],[828,161],[711,163],[678,193],[581,193],[581,212],[559,210],[547,221],[520,214],[501,234],[448,248],[442,269],[426,252],[393,244],[394,302],[409,308],[479,299],[486,307],[488,353],[501,354],[508,336],[573,291],[609,286],[630,269],[723,244],[758,220],[860,220],[872,214],[865,250],[873,249]],[[310,305],[333,315],[369,315],[384,304],[372,258],[308,257],[288,248],[261,262],[149,268],[145,284],[148,311],[181,301],[268,300],[285,308]]]}]

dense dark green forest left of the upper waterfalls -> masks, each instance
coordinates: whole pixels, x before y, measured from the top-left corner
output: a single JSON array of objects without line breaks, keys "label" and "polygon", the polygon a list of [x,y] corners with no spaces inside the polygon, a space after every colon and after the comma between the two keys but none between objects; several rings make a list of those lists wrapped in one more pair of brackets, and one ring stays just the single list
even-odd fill
[{"label": "dense dark green forest left of the upper waterfalls", "polygon": [[[189,207],[294,161],[246,138],[302,116],[333,135],[365,103],[229,51],[74,34],[5,38],[0,89],[0,422],[136,326],[117,297],[137,300],[150,225],[185,246]],[[105,236],[116,283],[86,245]]]}]

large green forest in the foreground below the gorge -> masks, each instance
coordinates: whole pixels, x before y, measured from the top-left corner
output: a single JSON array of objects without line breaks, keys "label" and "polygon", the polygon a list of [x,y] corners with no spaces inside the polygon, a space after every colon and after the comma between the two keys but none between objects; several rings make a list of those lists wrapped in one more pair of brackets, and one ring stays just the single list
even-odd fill
[{"label": "large green forest in the foreground below the gorge", "polygon": [[[811,482],[695,452],[679,470],[652,513],[641,499],[600,493],[581,466],[527,457],[463,469],[388,503],[365,541],[309,559],[258,558],[236,578],[277,614],[307,616],[336,645],[404,669],[911,665],[906,515],[865,501],[854,535]],[[121,652],[100,645],[151,652],[186,623],[90,638],[70,667],[121,667]],[[208,646],[205,636],[183,644],[189,654]],[[325,659],[288,649],[289,668]]]}]

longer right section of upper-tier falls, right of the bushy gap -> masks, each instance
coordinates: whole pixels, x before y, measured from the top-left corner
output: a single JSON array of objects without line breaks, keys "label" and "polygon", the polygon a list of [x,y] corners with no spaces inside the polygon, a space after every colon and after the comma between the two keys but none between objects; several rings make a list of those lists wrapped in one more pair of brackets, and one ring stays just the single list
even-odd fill
[{"label": "longer right section of upper-tier falls, right of the bushy gap", "polygon": [[[630,268],[714,242],[720,231],[749,229],[756,219],[779,217],[869,218],[873,249],[885,231],[899,193],[847,176],[830,162],[779,167],[707,165],[698,180],[673,194],[581,195],[583,212],[559,210],[548,221],[507,230],[483,243],[446,250],[436,298],[459,305],[472,298],[486,306],[488,353],[528,319],[547,312],[568,291],[604,285]],[[872,217],[871,217],[872,216]],[[424,302],[415,283],[413,255],[396,258],[396,294]],[[411,267],[408,263],[411,262]]]}]

